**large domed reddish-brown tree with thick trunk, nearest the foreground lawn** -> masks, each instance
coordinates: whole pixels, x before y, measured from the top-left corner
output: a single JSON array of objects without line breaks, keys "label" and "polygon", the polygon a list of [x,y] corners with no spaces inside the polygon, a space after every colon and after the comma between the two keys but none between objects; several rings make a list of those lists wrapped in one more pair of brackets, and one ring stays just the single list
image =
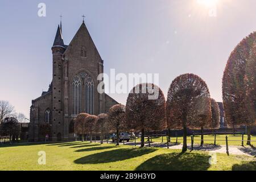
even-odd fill
[{"label": "large domed reddish-brown tree with thick trunk, nearest the foreground lawn", "polygon": [[170,129],[183,129],[183,152],[187,151],[187,128],[200,127],[192,125],[191,121],[196,121],[196,118],[192,118],[189,113],[195,109],[197,98],[204,97],[210,98],[207,84],[199,76],[189,73],[176,77],[168,90],[167,126]]}]

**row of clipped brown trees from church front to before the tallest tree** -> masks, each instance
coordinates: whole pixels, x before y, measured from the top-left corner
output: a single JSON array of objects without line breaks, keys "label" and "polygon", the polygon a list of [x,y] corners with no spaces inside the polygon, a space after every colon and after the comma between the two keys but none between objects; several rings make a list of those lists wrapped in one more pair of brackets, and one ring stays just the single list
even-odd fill
[{"label": "row of clipped brown trees from church front to before the tallest tree", "polygon": [[220,111],[217,102],[210,98],[207,84],[199,76],[185,74],[172,81],[167,101],[158,86],[139,84],[129,93],[126,106],[114,105],[108,114],[98,116],[79,114],[75,132],[92,136],[93,131],[112,130],[119,138],[119,130],[141,131],[143,147],[147,131],[183,129],[184,152],[187,151],[187,129],[201,129],[202,132],[203,129],[215,129],[219,127],[219,120]]}]

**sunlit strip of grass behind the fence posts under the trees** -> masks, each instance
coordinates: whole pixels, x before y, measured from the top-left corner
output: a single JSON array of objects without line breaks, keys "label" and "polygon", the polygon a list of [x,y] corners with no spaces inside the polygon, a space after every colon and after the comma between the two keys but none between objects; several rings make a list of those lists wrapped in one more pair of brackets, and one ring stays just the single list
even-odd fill
[{"label": "sunlit strip of grass behind the fence posts under the trees", "polygon": [[[228,136],[228,144],[230,146],[241,146],[242,145],[242,135],[227,135]],[[216,135],[216,144],[217,145],[225,145],[226,144],[226,135]],[[178,143],[183,143],[183,137],[178,137],[177,138]],[[244,135],[244,140],[247,140],[247,135]],[[145,141],[147,138],[145,138]],[[201,135],[195,135],[194,137],[194,143],[195,144],[200,144],[201,140]],[[231,140],[236,140],[236,141],[231,141]],[[255,142],[251,142],[254,146],[256,146],[256,137],[251,136],[251,140],[254,140]],[[139,142],[140,139],[137,139]],[[163,137],[163,142],[166,143],[167,138]],[[162,142],[162,137],[154,137],[152,138],[152,142]],[[171,137],[171,142],[176,143],[176,137]],[[187,143],[191,144],[191,136],[187,137]],[[204,143],[205,144],[214,144],[214,136],[213,135],[204,135]],[[244,146],[246,145],[246,141],[243,142]]]}]

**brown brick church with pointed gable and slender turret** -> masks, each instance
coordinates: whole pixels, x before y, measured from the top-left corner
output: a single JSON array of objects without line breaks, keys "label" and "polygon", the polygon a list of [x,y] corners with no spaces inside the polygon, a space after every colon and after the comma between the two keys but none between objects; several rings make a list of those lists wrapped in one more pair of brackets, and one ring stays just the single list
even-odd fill
[{"label": "brown brick church with pointed gable and slender turret", "polygon": [[30,107],[29,140],[42,140],[39,123],[51,125],[49,139],[73,140],[73,119],[85,112],[98,115],[108,113],[118,104],[107,94],[97,92],[97,76],[104,72],[104,61],[82,22],[69,45],[65,45],[61,24],[52,46],[52,82],[47,92],[32,100]]}]

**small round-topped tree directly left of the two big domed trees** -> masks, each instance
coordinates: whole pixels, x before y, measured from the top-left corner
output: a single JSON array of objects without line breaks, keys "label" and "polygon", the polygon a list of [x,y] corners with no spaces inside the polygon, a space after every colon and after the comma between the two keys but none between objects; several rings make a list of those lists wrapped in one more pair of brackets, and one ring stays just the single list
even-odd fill
[{"label": "small round-topped tree directly left of the two big domed trees", "polygon": [[116,104],[109,109],[109,126],[117,133],[117,146],[119,145],[119,130],[125,125],[125,106]]}]

